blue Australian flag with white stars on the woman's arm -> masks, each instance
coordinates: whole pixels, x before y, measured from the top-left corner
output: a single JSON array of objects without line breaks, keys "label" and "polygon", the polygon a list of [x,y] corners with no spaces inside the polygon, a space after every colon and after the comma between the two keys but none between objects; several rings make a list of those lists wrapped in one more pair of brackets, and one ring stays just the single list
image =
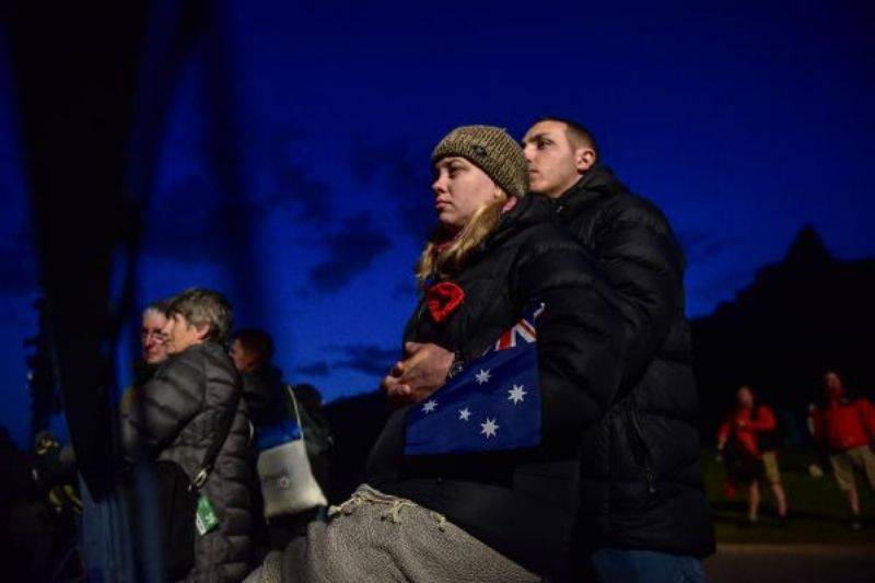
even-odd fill
[{"label": "blue Australian flag with white stars on the woman's arm", "polygon": [[407,417],[405,454],[497,452],[540,443],[535,322],[529,311],[482,357]]}]

